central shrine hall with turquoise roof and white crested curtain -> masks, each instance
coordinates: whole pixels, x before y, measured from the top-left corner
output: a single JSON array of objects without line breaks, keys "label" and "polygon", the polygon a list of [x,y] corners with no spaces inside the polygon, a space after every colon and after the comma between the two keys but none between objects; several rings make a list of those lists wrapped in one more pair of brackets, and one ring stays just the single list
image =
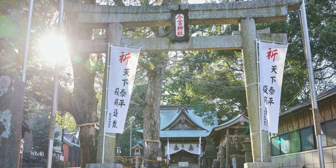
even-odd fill
[{"label": "central shrine hall with turquoise roof and white crested curtain", "polygon": [[[204,151],[206,136],[218,126],[217,117],[212,119],[213,126],[203,124],[203,118],[195,115],[190,105],[162,105],[160,107],[161,150],[165,156],[168,155],[169,139],[169,164],[171,166],[177,166],[179,162],[180,164],[188,162],[189,166],[198,165],[199,149],[201,148],[201,153]],[[143,132],[143,130],[137,131]],[[199,145],[200,137],[201,146]]]}]

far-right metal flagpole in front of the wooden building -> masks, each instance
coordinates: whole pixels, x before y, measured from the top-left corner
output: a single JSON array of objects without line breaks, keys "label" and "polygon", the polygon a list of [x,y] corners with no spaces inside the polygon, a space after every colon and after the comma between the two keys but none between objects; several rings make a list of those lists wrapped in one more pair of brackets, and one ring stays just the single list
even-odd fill
[{"label": "far-right metal flagpole in front of the wooden building", "polygon": [[321,137],[321,125],[320,125],[320,114],[316,99],[316,90],[315,90],[315,81],[314,81],[314,72],[312,67],[312,59],[310,52],[310,43],[309,43],[309,34],[308,34],[308,26],[307,26],[307,16],[306,16],[306,7],[304,5],[304,0],[301,4],[301,29],[304,39],[304,48],[305,48],[305,56],[307,59],[308,65],[308,77],[309,77],[309,87],[310,87],[310,95],[311,95],[311,107],[313,110],[314,117],[314,126],[315,126],[315,135],[317,138],[318,151],[319,151],[319,159],[320,159],[320,167],[324,168],[324,157],[323,157],[323,147],[322,147],[322,137]]}]

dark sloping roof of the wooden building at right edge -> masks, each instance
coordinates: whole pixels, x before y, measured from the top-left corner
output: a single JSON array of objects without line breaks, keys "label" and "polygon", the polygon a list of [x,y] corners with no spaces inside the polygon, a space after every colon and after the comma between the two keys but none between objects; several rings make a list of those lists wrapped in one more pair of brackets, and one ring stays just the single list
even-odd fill
[{"label": "dark sloping roof of the wooden building at right edge", "polygon": [[[329,89],[325,92],[322,92],[319,95],[317,95],[316,97],[317,97],[318,104],[320,104],[320,103],[323,103],[325,100],[328,100],[329,98],[333,98],[334,96],[336,96],[336,87],[332,88],[332,89]],[[305,100],[305,101],[302,101],[301,103],[293,106],[292,108],[290,108],[290,109],[288,109],[284,112],[281,112],[280,117],[284,116],[286,114],[299,112],[299,111],[309,109],[309,108],[311,108],[310,98]]]}]

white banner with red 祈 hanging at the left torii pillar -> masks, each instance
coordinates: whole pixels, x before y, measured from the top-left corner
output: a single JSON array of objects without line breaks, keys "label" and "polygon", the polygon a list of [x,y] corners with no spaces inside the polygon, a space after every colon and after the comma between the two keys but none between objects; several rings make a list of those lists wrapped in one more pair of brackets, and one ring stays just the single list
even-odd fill
[{"label": "white banner with red \u7948 hanging at the left torii pillar", "polygon": [[140,48],[111,47],[105,132],[123,133]]}]

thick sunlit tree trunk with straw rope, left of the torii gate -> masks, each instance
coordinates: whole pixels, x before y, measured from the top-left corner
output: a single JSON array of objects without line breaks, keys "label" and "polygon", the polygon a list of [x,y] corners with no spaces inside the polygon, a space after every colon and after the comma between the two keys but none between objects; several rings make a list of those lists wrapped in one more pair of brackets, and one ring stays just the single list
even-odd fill
[{"label": "thick sunlit tree trunk with straw rope, left of the torii gate", "polygon": [[[67,41],[69,42],[69,54],[74,73],[74,92],[71,99],[71,110],[77,124],[94,123],[98,121],[97,103],[94,79],[95,72],[91,71],[90,55],[77,53],[78,39],[90,39],[89,29],[79,28],[76,18],[67,18]],[[94,125],[81,126],[79,131],[82,164],[96,162],[97,134]]]}]

